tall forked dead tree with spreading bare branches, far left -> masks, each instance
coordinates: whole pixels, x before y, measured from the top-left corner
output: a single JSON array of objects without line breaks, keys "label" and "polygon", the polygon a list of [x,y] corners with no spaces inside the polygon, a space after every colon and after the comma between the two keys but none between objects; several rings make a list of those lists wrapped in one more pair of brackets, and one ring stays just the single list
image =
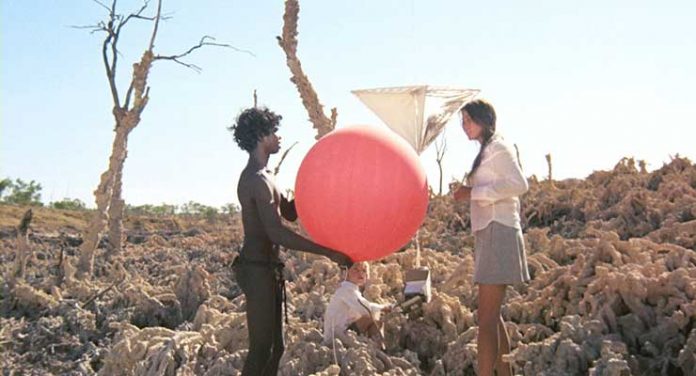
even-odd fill
[{"label": "tall forked dead tree with spreading bare branches, far left", "polygon": [[[204,46],[228,47],[238,51],[227,44],[215,43],[210,36],[204,36],[198,44],[188,50],[175,55],[156,55],[154,53],[155,40],[159,29],[162,16],[162,0],[157,2],[157,10],[154,16],[145,16],[144,12],[149,5],[149,0],[144,0],[140,9],[127,16],[116,12],[117,0],[113,0],[111,6],[106,6],[98,0],[94,0],[109,12],[106,21],[97,25],[81,28],[91,28],[92,32],[104,32],[106,37],[102,43],[102,62],[106,71],[111,98],[113,101],[112,114],[116,125],[114,127],[114,141],[112,143],[109,166],[102,173],[99,185],[94,191],[97,210],[94,212],[87,229],[85,230],[84,241],[80,247],[80,259],[78,261],[78,277],[89,277],[94,268],[94,252],[99,243],[101,231],[109,222],[109,248],[108,254],[114,254],[121,250],[123,242],[123,209],[125,202],[121,197],[123,166],[127,157],[128,136],[130,132],[140,123],[140,116],[145,110],[150,99],[150,87],[147,84],[148,74],[153,62],[156,60],[170,60],[181,64],[187,68],[200,72],[200,68],[194,64],[184,62],[182,58],[190,55],[195,50]],[[133,64],[133,75],[126,90],[123,100],[119,95],[116,84],[116,71],[118,68],[118,42],[123,28],[131,20],[146,20],[153,22],[152,33],[147,49],[143,53],[140,62]],[[248,51],[244,51],[248,52]]]}]

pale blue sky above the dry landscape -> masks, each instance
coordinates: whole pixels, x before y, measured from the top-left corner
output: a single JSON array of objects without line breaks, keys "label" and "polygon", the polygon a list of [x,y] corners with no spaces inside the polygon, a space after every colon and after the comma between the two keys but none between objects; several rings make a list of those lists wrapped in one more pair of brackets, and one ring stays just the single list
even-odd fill
[{"label": "pale blue sky above the dry landscape", "polygon": [[[154,1],[154,0],[153,0]],[[120,1],[127,13],[138,1]],[[583,178],[622,157],[659,168],[679,153],[696,160],[696,3],[693,1],[300,1],[298,54],[339,126],[380,124],[350,91],[411,84],[481,89],[498,128],[516,143],[527,175]],[[247,156],[226,127],[259,103],[283,115],[283,145],[299,142],[277,182],[292,188],[314,131],[275,36],[282,1],[164,1],[156,52],[214,36],[253,52],[209,48],[180,65],[157,62],[150,102],[130,138],[124,197],[130,204],[237,202]],[[153,7],[154,9],[154,7]],[[45,202],[92,191],[113,139],[102,34],[71,28],[105,19],[92,1],[0,1],[0,177],[36,180]],[[121,38],[125,91],[149,40],[133,22]],[[446,130],[445,181],[477,151],[456,121]],[[437,182],[434,147],[421,161]],[[278,155],[279,156],[279,155]],[[275,166],[277,157],[269,165]]]}]

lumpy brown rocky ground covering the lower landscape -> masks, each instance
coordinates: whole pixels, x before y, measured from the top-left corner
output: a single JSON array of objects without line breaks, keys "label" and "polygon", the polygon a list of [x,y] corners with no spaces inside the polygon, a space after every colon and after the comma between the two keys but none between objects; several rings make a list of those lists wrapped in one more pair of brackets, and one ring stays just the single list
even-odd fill
[{"label": "lumpy brown rocky ground covering the lower landscape", "polygon": [[[530,178],[522,216],[532,281],[508,288],[503,317],[522,375],[696,375],[696,165],[647,172],[621,160],[583,180]],[[126,249],[75,276],[88,212],[0,205],[3,375],[238,375],[244,298],[229,263],[237,216],[127,218]],[[322,343],[341,276],[285,252],[289,324],[281,375],[474,375],[476,294],[468,207],[431,198],[418,234],[433,298],[384,317],[386,351],[349,333]],[[106,245],[105,242],[102,242]],[[403,301],[410,244],[372,265],[365,295]],[[25,278],[14,279],[26,249]]]}]

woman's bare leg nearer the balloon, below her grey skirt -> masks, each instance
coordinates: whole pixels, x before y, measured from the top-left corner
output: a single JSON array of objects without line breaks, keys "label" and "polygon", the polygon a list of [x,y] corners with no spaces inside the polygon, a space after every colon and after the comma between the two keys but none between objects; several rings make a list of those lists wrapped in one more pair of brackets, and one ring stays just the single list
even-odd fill
[{"label": "woman's bare leg nearer the balloon, below her grey skirt", "polygon": [[505,285],[479,284],[478,374],[493,376],[498,360],[498,325]]}]

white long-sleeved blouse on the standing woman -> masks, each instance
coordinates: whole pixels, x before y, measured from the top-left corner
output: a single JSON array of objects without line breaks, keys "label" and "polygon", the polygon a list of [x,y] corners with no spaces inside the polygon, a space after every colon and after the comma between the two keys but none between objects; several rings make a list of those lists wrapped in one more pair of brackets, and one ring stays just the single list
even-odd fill
[{"label": "white long-sleeved blouse on the standing woman", "polygon": [[476,232],[492,221],[521,229],[520,200],[529,185],[522,174],[513,148],[499,135],[483,150],[478,169],[469,180],[471,189],[471,230]]}]

